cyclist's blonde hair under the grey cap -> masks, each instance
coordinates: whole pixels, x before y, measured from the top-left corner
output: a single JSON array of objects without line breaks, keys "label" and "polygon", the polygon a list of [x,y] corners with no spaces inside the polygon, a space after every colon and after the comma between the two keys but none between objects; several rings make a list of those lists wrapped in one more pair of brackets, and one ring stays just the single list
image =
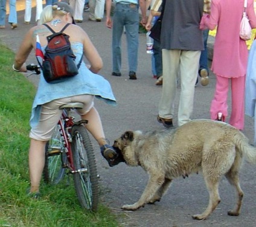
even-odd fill
[{"label": "cyclist's blonde hair under the grey cap", "polygon": [[62,17],[67,14],[66,11],[57,10],[57,8],[57,5],[46,5],[46,7],[43,8],[38,24],[41,25],[53,21],[53,18],[55,18],[56,16]]}]

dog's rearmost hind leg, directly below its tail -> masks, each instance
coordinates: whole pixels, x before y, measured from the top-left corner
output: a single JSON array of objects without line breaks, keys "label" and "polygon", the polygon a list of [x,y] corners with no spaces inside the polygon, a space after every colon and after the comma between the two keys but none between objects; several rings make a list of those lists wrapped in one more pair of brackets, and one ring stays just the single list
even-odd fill
[{"label": "dog's rearmost hind leg, directly below its tail", "polygon": [[238,156],[235,158],[234,165],[232,165],[231,170],[225,174],[226,179],[228,179],[229,183],[235,187],[237,191],[237,204],[235,205],[232,211],[228,211],[228,215],[230,216],[238,216],[241,211],[242,207],[242,200],[243,200],[243,191],[239,184],[239,176],[238,172],[240,169],[240,158]]}]

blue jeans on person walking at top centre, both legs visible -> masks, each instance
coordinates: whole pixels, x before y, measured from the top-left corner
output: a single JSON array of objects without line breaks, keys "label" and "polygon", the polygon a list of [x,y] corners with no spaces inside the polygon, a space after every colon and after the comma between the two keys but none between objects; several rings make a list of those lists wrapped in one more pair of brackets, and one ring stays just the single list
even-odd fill
[{"label": "blue jeans on person walking at top centre, both legs visible", "polygon": [[134,4],[115,5],[112,28],[113,72],[121,71],[121,37],[126,29],[129,71],[136,72],[139,47],[139,13]]}]

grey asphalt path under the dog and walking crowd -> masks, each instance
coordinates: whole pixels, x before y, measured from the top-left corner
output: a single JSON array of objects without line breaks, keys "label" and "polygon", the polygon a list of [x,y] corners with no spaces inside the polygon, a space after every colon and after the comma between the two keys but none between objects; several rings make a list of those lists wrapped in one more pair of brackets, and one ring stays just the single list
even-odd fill
[{"label": "grey asphalt path under the dog and walking crowd", "polygon": [[[26,31],[35,25],[34,22],[30,25],[23,24],[24,4],[24,0],[17,0],[19,10],[18,28],[11,30],[7,25],[5,30],[0,31],[1,42],[6,43],[13,51],[17,50]],[[34,13],[35,9],[33,8],[33,15]],[[34,16],[32,19],[34,20]],[[110,50],[112,32],[109,28],[106,28],[104,23],[105,21],[88,21],[88,13],[85,13],[85,20],[79,25],[89,34],[100,53],[104,62],[101,75],[111,83],[118,101],[117,107],[107,106],[102,101],[95,101],[107,138],[112,144],[114,139],[118,138],[126,130],[147,131],[163,129],[163,126],[156,121],[162,88],[155,86],[156,80],[152,77],[151,56],[146,54],[146,34],[139,34],[138,80],[129,80],[128,77],[129,69],[127,66],[125,36],[123,36],[122,76],[114,77],[111,75],[112,57]],[[31,62],[36,63],[33,54],[28,59],[28,63]],[[36,76],[30,77],[28,80],[35,85],[37,84]],[[197,86],[193,118],[210,118],[209,109],[214,94],[214,86],[215,78],[213,74],[210,75],[210,85],[202,87],[199,84]],[[252,142],[254,121],[246,117],[245,123],[244,133]],[[174,116],[174,125],[177,125],[176,116]],[[208,220],[197,221],[191,218],[193,214],[202,213],[208,205],[208,192],[200,174],[193,174],[186,179],[180,177],[174,180],[161,202],[155,205],[146,205],[138,211],[122,211],[120,209],[122,205],[131,204],[139,199],[146,187],[148,176],[142,168],[127,167],[123,163],[109,168],[107,162],[100,155],[98,145],[95,144],[95,141],[93,143],[97,156],[98,173],[101,176],[101,199],[106,206],[109,206],[117,214],[120,226],[256,226],[255,166],[245,163],[241,171],[241,185],[245,196],[242,213],[238,217],[230,217],[226,214],[234,206],[235,194],[226,179],[223,179],[220,184],[222,202],[217,206],[214,213],[211,214]]]}]

